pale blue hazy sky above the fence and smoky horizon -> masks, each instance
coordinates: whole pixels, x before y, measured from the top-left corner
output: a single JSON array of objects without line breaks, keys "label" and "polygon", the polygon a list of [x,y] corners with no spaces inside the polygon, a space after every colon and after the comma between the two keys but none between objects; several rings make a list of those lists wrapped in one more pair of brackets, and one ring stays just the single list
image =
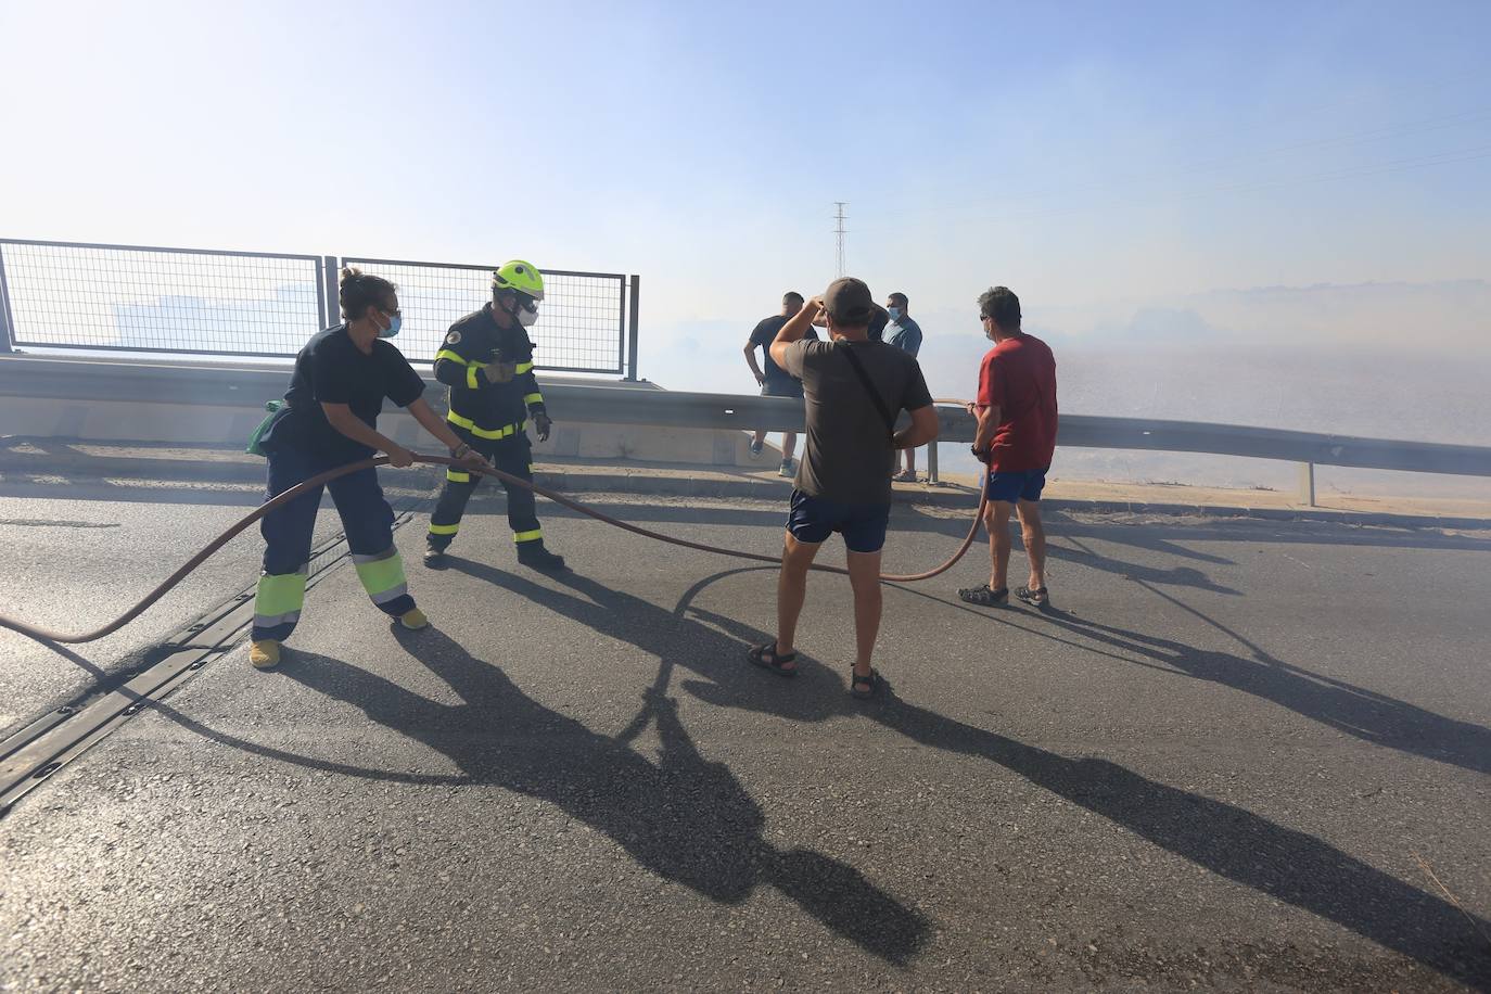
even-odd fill
[{"label": "pale blue hazy sky above the fence and smoky horizon", "polygon": [[644,373],[740,364],[835,200],[929,337],[990,283],[1081,331],[1484,280],[1488,39],[1484,0],[0,0],[0,235],[640,273]]}]

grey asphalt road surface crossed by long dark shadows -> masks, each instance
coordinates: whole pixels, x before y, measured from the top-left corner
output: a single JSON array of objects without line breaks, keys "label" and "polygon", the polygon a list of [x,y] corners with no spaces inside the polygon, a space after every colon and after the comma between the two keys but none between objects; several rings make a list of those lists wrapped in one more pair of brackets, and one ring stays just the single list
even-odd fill
[{"label": "grey asphalt road surface crossed by long dark shadows", "polygon": [[[765,551],[783,517],[601,501]],[[0,525],[28,604],[107,614],[142,548],[242,508],[98,510],[119,528]],[[786,681],[744,663],[769,568],[547,508],[576,569],[543,577],[480,510],[441,572],[400,531],[435,630],[391,632],[341,568],[279,672],[207,666],[12,808],[0,988],[1491,990],[1485,536],[1066,517],[1065,614],[962,605],[978,559],[887,589],[893,691],[863,703],[842,578]],[[887,565],[963,528],[898,507]],[[3,647],[34,706],[76,690]]]}]

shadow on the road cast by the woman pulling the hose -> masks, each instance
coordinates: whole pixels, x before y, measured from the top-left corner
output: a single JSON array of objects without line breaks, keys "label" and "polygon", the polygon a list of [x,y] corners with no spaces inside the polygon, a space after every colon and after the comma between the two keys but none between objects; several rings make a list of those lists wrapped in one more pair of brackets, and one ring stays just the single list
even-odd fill
[{"label": "shadow on the road cast by the woman pulling the hose", "polygon": [[677,702],[647,691],[644,714],[662,742],[652,762],[519,690],[444,633],[398,642],[461,697],[444,705],[337,659],[297,654],[286,678],[359,708],[373,721],[449,757],[467,782],[543,799],[605,833],[637,863],[710,900],[743,903],[771,885],[860,948],[904,966],[929,922],[859,870],[811,849],[778,849],[766,818],[728,766],[704,759]]}]

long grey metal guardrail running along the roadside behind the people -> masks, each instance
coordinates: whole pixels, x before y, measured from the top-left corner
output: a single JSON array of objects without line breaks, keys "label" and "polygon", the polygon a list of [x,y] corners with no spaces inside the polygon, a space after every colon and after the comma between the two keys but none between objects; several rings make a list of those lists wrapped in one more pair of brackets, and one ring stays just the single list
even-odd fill
[{"label": "long grey metal guardrail running along the roadside behind the people", "polygon": [[[182,368],[124,362],[0,358],[0,395],[151,404],[245,405],[258,408],[279,396],[283,370]],[[438,401],[444,387],[431,383]],[[669,428],[802,431],[802,404],[774,396],[735,396],[622,386],[544,384],[544,399],[562,422]],[[939,407],[939,441],[972,443],[974,419]],[[1063,414],[1059,446],[1211,453],[1296,462],[1302,498],[1314,504],[1314,466],[1352,466],[1491,477],[1491,447],[1358,438],[1318,432],[1170,422],[1138,417]],[[929,460],[936,452],[927,447]],[[927,466],[933,469],[932,465]],[[1311,489],[1306,489],[1311,487]]]}]

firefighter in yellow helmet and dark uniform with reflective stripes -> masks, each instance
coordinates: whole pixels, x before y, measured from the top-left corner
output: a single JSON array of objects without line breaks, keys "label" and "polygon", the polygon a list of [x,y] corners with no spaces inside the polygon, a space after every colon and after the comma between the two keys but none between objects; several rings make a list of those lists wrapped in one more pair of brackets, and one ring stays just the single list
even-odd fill
[{"label": "firefighter in yellow helmet and dark uniform with reflective stripes", "polygon": [[[450,429],[494,466],[528,481],[534,478],[528,419],[532,417],[540,441],[549,441],[553,431],[534,379],[534,343],[528,338],[543,298],[543,274],[531,262],[513,259],[492,274],[492,300],[453,323],[435,353],[435,379],[450,387]],[[441,565],[480,481],[480,475],[462,469],[446,472],[446,489],[429,517],[425,539],[428,565]],[[564,557],[544,548],[532,490],[504,486],[517,562],[535,569],[564,569]]]}]

